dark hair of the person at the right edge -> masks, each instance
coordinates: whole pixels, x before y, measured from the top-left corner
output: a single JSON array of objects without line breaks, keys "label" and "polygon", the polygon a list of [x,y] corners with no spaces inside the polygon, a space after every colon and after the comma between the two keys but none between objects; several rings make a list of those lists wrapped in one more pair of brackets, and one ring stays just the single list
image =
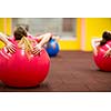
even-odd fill
[{"label": "dark hair of the person at the right edge", "polygon": [[100,42],[100,46],[105,44],[109,40],[111,40],[111,33],[109,31],[104,31],[102,34],[102,40]]}]

